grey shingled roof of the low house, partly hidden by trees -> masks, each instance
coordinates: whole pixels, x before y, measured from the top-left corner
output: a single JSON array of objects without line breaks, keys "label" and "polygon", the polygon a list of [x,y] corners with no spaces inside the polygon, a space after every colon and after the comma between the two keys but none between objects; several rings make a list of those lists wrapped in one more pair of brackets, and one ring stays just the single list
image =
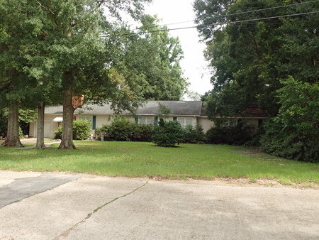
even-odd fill
[{"label": "grey shingled roof of the low house, partly hidden by trees", "polygon": [[[201,116],[201,107],[203,102],[201,101],[149,101],[143,107],[140,107],[137,111],[139,115],[157,115],[159,112],[159,103],[170,109],[169,115],[176,116]],[[46,107],[45,114],[62,114],[62,106]],[[114,111],[111,109],[111,105],[105,104],[103,106],[88,104],[84,107],[76,109],[74,114],[106,114],[112,115]],[[125,111],[124,114],[130,114]]]}]

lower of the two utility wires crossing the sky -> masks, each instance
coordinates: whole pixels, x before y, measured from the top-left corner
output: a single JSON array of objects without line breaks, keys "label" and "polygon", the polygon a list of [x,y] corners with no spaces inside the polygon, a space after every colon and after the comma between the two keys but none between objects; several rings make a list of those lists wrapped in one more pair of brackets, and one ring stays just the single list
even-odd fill
[{"label": "lower of the two utility wires crossing the sky", "polygon": [[295,13],[295,14],[288,14],[283,16],[271,16],[267,18],[254,18],[254,19],[247,19],[242,21],[230,21],[230,22],[224,22],[224,23],[212,23],[212,24],[206,24],[206,25],[200,25],[200,26],[191,26],[191,27],[184,27],[184,28],[170,28],[170,29],[162,29],[162,30],[155,30],[155,31],[142,31],[138,33],[125,33],[124,35],[133,35],[133,34],[142,34],[142,33],[156,33],[156,32],[167,32],[167,31],[174,31],[174,30],[182,30],[182,29],[189,29],[189,28],[206,28],[210,26],[218,26],[218,25],[225,25],[229,23],[247,23],[251,21],[263,21],[268,19],[274,19],[274,18],[286,18],[289,16],[302,16],[302,15],[309,15],[309,14],[315,14],[319,13],[319,11],[310,11],[307,13]]}]

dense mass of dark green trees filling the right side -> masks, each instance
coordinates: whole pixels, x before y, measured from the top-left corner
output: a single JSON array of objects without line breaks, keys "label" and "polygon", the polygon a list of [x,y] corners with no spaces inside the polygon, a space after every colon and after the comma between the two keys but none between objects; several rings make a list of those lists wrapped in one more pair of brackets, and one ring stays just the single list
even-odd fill
[{"label": "dense mass of dark green trees filling the right side", "polygon": [[[264,151],[318,161],[319,15],[311,12],[319,2],[196,0],[194,10],[198,26],[211,24],[198,28],[213,70],[203,96],[209,118],[259,107],[269,116],[259,134]],[[286,15],[295,16],[273,18]]]}]

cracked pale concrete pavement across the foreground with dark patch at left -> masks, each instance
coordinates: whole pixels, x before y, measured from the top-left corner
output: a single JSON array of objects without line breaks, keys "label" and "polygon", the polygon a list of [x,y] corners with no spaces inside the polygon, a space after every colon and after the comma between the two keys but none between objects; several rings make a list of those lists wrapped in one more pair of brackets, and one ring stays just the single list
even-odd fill
[{"label": "cracked pale concrete pavement across the foreground with dark patch at left", "polygon": [[319,190],[0,171],[0,239],[319,239]]}]

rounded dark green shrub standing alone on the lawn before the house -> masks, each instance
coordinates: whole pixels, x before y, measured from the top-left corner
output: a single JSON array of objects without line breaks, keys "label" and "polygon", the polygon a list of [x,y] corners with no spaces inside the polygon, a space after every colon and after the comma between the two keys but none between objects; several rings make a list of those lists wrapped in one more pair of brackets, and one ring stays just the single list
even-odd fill
[{"label": "rounded dark green shrub standing alone on the lawn before the house", "polygon": [[184,141],[184,129],[178,121],[159,120],[152,132],[152,142],[161,147],[174,147]]}]

